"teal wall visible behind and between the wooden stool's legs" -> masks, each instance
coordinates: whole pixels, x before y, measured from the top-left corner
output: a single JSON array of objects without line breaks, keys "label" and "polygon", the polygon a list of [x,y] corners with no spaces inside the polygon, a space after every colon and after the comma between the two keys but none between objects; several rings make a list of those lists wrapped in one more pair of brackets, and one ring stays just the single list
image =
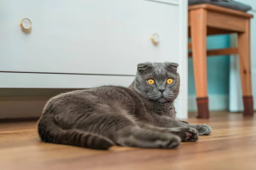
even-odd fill
[{"label": "teal wall visible behind and between the wooden stool's legs", "polygon": [[[230,47],[229,35],[207,37],[207,49]],[[192,59],[189,59],[189,95],[195,95]],[[208,94],[229,94],[229,56],[207,58]]]}]

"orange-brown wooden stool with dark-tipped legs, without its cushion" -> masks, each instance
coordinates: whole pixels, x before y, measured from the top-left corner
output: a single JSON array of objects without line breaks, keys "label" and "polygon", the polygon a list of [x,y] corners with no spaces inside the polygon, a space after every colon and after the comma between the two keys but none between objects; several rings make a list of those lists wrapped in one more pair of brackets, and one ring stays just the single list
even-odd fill
[{"label": "orange-brown wooden stool with dark-tipped legs, without its cushion", "polygon": [[[198,118],[209,118],[207,92],[207,56],[238,54],[244,101],[244,116],[253,116],[253,96],[250,68],[250,18],[253,15],[219,6],[200,4],[189,6],[189,49],[192,54]],[[209,50],[207,35],[238,34],[238,47]]]}]

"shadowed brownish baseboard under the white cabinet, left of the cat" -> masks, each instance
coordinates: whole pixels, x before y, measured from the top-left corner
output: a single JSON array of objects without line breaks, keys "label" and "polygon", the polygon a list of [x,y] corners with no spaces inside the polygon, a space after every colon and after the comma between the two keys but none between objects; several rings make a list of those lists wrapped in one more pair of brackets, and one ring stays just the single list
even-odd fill
[{"label": "shadowed brownish baseboard under the white cabinet, left of the cat", "polygon": [[1,96],[0,119],[39,117],[49,98],[47,96]]}]

